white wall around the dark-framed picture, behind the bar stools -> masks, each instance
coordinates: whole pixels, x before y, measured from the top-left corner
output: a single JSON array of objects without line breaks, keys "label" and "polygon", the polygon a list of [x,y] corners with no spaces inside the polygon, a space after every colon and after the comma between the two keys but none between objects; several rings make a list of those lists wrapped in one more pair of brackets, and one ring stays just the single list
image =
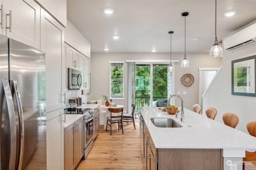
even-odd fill
[{"label": "white wall around the dark-framed picture, behind the bar stools", "polygon": [[256,97],[231,95],[231,61],[256,55],[256,45],[227,51],[223,49],[222,69],[203,98],[203,114],[207,107],[218,110],[215,120],[223,123],[222,115],[227,112],[239,117],[237,129],[247,132],[246,124],[256,121]]}]

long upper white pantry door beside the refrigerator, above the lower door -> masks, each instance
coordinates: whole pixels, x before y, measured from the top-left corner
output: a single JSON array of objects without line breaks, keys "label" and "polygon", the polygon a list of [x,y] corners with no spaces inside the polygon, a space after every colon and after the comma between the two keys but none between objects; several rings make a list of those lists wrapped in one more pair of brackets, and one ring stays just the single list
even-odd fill
[{"label": "long upper white pantry door beside the refrigerator, above the lower door", "polygon": [[62,108],[62,50],[63,27],[42,9],[41,50],[46,60],[46,113]]}]

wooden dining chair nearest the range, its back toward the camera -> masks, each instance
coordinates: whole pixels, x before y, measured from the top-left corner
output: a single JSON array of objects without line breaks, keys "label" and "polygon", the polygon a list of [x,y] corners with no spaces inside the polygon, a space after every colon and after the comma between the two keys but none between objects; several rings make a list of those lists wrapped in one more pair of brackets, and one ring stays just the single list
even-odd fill
[{"label": "wooden dining chair nearest the range, its back toward the camera", "polygon": [[[110,111],[110,117],[107,117],[107,125],[106,125],[106,131],[108,128],[108,125],[110,126],[110,135],[112,135],[112,124],[118,123],[118,130],[119,126],[122,128],[122,133],[124,134],[123,130],[123,108],[108,108]],[[119,114],[117,114],[119,113]]]}]

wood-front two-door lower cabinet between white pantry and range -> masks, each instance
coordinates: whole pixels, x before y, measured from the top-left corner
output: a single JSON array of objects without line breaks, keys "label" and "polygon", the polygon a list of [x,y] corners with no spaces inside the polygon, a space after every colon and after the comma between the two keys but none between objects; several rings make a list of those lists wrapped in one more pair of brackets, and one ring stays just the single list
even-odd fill
[{"label": "wood-front two-door lower cabinet between white pantry and range", "polygon": [[64,170],[74,170],[83,157],[84,118],[64,128]]}]

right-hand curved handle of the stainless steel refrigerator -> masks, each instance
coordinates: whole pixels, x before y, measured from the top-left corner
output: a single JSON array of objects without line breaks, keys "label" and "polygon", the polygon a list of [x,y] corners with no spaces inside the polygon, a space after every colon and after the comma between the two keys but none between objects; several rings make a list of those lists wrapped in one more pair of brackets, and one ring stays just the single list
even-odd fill
[{"label": "right-hand curved handle of the stainless steel refrigerator", "polygon": [[23,153],[24,153],[24,116],[23,116],[23,109],[20,97],[20,91],[18,87],[17,80],[11,81],[12,88],[14,89],[15,98],[17,101],[17,109],[18,109],[18,119],[19,119],[19,127],[20,127],[20,154],[18,160],[18,170],[21,170],[22,167],[22,160],[23,160]]}]

